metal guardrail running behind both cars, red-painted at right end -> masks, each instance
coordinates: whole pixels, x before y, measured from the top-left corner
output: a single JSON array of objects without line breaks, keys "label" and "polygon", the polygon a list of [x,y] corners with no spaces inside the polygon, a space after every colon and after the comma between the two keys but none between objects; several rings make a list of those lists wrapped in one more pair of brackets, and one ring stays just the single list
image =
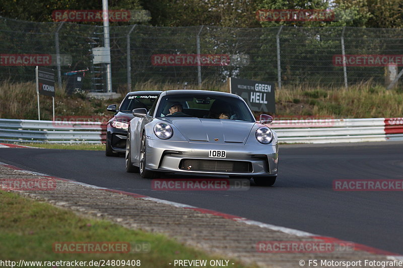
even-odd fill
[{"label": "metal guardrail running behind both cars, red-painted at right end", "polygon": [[[284,143],[403,140],[403,118],[275,120]],[[0,141],[48,143],[105,142],[101,122],[0,119]]]}]

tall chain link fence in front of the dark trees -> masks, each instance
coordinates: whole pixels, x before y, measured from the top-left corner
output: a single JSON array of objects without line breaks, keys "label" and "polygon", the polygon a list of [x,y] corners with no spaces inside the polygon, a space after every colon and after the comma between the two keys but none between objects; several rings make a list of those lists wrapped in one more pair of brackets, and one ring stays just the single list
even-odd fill
[{"label": "tall chain link fence in front of the dark trees", "polygon": [[[59,82],[67,83],[72,71],[84,70],[83,90],[105,92],[105,66],[92,62],[92,49],[102,47],[103,38],[102,26],[0,17],[0,80],[34,80],[38,55],[50,55],[42,64],[55,69]],[[385,84],[386,62],[368,64],[366,57],[395,55],[389,61],[403,65],[403,29],[128,25],[110,27],[110,46],[115,92],[145,84],[222,88],[228,77],[279,86]]]}]

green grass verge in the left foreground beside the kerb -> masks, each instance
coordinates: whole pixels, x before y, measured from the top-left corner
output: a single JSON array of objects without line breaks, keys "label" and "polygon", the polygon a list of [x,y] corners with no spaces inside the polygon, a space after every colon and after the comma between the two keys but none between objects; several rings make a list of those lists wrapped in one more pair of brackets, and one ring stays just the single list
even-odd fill
[{"label": "green grass verge in the left foreground beside the kerb", "polygon": [[[172,267],[174,259],[223,259],[189,248],[163,235],[129,230],[104,220],[0,191],[0,259],[18,261],[141,260],[141,267]],[[55,242],[143,242],[149,253],[57,253]],[[236,261],[232,267],[244,267]],[[230,262],[230,263],[231,263]],[[30,266],[34,267],[34,266]],[[111,266],[115,267],[115,266]],[[210,267],[210,266],[209,266]]]}]

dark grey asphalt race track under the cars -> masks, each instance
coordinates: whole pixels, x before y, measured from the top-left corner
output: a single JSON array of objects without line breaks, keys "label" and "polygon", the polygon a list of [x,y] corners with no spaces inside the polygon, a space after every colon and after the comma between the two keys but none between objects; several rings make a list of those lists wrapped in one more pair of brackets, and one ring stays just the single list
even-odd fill
[{"label": "dark grey asphalt race track under the cars", "polygon": [[403,180],[403,142],[283,145],[279,155],[274,187],[162,192],[138,173],[126,173],[123,157],[103,151],[0,148],[0,161],[25,169],[403,254],[403,191],[332,189],[333,180]]}]

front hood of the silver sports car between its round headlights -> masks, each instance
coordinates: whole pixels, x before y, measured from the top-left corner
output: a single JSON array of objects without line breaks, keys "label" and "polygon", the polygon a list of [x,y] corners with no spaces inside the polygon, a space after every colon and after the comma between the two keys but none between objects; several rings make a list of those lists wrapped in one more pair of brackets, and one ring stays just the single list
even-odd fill
[{"label": "front hood of the silver sports car between its round headlights", "polygon": [[255,122],[207,118],[165,118],[189,142],[245,143]]}]

